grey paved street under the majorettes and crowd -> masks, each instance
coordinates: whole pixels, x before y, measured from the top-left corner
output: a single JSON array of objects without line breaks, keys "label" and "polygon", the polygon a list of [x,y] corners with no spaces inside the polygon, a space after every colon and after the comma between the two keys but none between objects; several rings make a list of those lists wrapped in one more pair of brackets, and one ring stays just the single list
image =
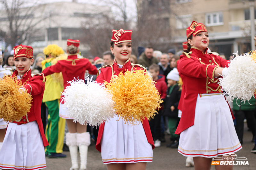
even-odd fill
[{"label": "grey paved street under the majorettes and crowd", "polygon": [[[246,125],[247,126],[247,125]],[[245,126],[245,127],[246,127]],[[178,149],[166,148],[166,144],[169,142],[170,136],[166,136],[166,143],[162,143],[162,146],[155,148],[153,162],[147,164],[147,170],[192,170],[194,167],[186,167],[185,160],[186,157],[178,153]],[[244,131],[244,144],[243,149],[236,152],[238,157],[246,157],[249,161],[249,165],[236,165],[234,170],[255,170],[256,169],[256,154],[250,151],[253,148],[252,133]],[[69,170],[71,167],[71,160],[69,152],[64,152],[67,154],[67,158],[63,159],[49,159],[46,158],[47,170]],[[78,158],[79,159],[79,158]],[[212,169],[215,169],[212,166]],[[95,144],[89,147],[88,150],[88,163],[87,170],[107,170],[107,166],[102,163],[100,152],[95,149]]]}]

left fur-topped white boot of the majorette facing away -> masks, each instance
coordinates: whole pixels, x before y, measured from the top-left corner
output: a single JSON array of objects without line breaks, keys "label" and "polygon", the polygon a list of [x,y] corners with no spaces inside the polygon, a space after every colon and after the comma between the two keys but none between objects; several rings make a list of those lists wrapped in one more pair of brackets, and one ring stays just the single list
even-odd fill
[{"label": "left fur-topped white boot of the majorette facing away", "polygon": [[69,170],[78,170],[78,159],[77,159],[77,145],[76,145],[76,134],[77,133],[67,133],[66,134],[66,144],[69,148],[69,153],[71,157],[72,166]]}]

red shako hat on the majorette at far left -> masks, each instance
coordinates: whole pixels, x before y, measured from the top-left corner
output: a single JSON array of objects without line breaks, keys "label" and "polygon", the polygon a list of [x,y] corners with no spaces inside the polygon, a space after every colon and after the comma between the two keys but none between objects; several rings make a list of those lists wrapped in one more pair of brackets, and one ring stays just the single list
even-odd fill
[{"label": "red shako hat on the majorette at far left", "polygon": [[20,44],[19,46],[15,46],[13,48],[13,51],[14,51],[14,54],[13,54],[14,59],[17,57],[27,57],[27,58],[33,57],[33,48],[30,46],[24,46]]}]

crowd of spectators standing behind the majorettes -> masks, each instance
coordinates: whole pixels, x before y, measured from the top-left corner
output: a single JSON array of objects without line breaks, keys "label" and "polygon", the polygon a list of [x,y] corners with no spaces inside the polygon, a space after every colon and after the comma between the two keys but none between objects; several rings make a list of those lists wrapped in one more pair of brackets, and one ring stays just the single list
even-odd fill
[{"label": "crowd of spectators standing behind the majorettes", "polygon": [[[184,52],[189,52],[183,49]],[[215,55],[220,55],[223,59],[226,59],[224,53],[212,52]],[[180,100],[180,93],[182,88],[180,87],[180,77],[177,67],[177,61],[180,58],[182,51],[175,52],[175,49],[169,49],[168,51],[161,52],[154,50],[153,47],[148,46],[138,47],[138,56],[131,55],[130,62],[133,64],[140,64],[144,66],[149,75],[151,75],[153,81],[156,82],[156,89],[161,94],[164,103],[158,111],[155,118],[149,121],[152,136],[155,141],[155,146],[160,147],[161,143],[165,142],[165,134],[170,135],[171,143],[167,144],[167,147],[177,148],[179,144],[179,136],[175,135],[174,132],[178,126],[180,118],[178,117],[178,103]],[[86,57],[89,61],[94,64],[98,69],[105,65],[112,65],[114,63],[114,55],[111,51],[105,51],[102,56],[88,56]],[[234,56],[230,55],[227,59],[231,60]],[[3,57],[3,68],[14,71],[14,60],[13,50],[11,52],[4,53]],[[39,53],[34,57],[35,62],[31,65],[31,73],[42,72],[42,61],[45,60],[43,53]],[[87,75],[89,75],[87,73]],[[87,76],[85,75],[85,76]],[[97,75],[89,75],[93,80],[96,79]],[[228,97],[228,96],[227,96]],[[252,142],[255,142],[256,134],[256,100],[252,98],[250,101],[241,102],[240,100],[233,100],[229,102],[233,113],[236,117],[234,120],[236,133],[241,144],[243,144],[243,132],[244,132],[244,121],[247,121],[248,128],[252,132]],[[46,109],[46,106],[44,106]],[[45,112],[45,109],[42,109]],[[45,118],[45,120],[44,120]],[[46,117],[42,116],[44,126],[46,125]],[[45,128],[45,127],[44,127]],[[97,140],[98,129],[97,127],[88,128],[91,129],[93,138]],[[65,149],[67,150],[67,149]],[[253,150],[256,153],[256,148]]]}]

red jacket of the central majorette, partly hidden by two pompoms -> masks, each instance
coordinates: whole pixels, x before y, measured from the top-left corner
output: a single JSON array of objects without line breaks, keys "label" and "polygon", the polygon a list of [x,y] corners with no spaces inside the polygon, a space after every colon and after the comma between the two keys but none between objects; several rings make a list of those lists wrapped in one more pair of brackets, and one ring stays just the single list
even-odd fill
[{"label": "red jacket of the central majorette, partly hidden by two pompoms", "polygon": [[[112,65],[106,65],[106,66],[103,66],[100,68],[100,70],[99,70],[100,74],[96,78],[96,81],[97,81],[97,83],[101,83],[101,84],[103,84],[104,81],[107,81],[109,83],[110,80],[114,76],[116,77],[121,71],[123,71],[123,74],[124,74],[125,71],[140,70],[140,69],[145,69],[145,68],[139,64],[132,64],[130,62],[130,59],[128,59],[124,63],[123,68],[120,69],[115,60],[115,62]],[[152,148],[154,149],[155,145],[154,145],[153,137],[152,137],[152,134],[150,131],[148,119],[144,119],[142,122],[143,122],[143,124],[142,124],[143,129],[145,130],[145,134],[148,139],[148,143],[152,144]],[[101,138],[103,135],[104,125],[105,125],[105,122],[100,124],[97,143],[96,143],[96,149],[100,152],[101,152],[100,141],[101,141]]]}]

